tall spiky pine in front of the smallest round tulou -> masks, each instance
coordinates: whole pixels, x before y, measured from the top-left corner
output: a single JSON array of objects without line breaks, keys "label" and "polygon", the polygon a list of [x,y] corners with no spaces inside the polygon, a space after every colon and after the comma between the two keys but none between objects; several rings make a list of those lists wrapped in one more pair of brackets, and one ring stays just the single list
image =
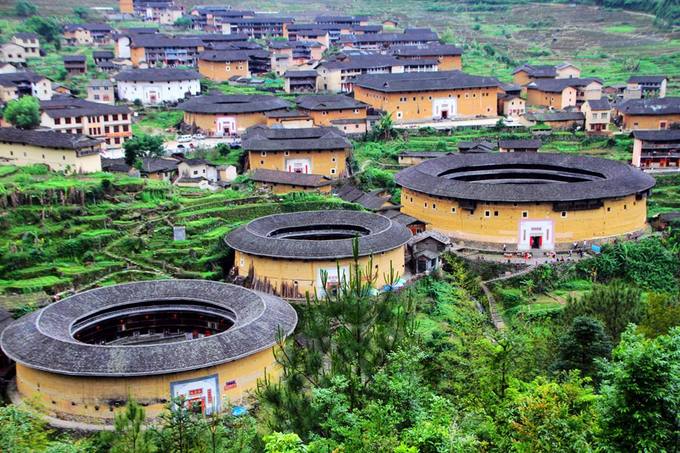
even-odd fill
[{"label": "tall spiky pine in front of the smallest round tulou", "polygon": [[[300,307],[298,332],[304,345],[290,337],[275,352],[283,368],[280,383],[258,383],[257,396],[274,431],[294,431],[301,436],[321,432],[322,414],[312,407],[312,390],[330,387],[333,379],[345,382],[350,412],[366,404],[366,392],[389,354],[415,331],[413,302],[393,292],[373,295],[379,279],[394,282],[397,276],[379,276],[369,263],[354,263],[348,275],[331,288],[323,277],[322,296],[308,295]],[[338,275],[341,270],[338,268]]]}]

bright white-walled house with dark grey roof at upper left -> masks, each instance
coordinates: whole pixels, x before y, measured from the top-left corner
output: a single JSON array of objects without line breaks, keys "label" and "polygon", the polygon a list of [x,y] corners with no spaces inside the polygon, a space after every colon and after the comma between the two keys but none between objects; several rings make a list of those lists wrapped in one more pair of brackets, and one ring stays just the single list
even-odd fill
[{"label": "bright white-walled house with dark grey roof at upper left", "polygon": [[139,99],[145,105],[177,102],[201,92],[200,74],[188,69],[128,69],[115,79],[118,99]]}]

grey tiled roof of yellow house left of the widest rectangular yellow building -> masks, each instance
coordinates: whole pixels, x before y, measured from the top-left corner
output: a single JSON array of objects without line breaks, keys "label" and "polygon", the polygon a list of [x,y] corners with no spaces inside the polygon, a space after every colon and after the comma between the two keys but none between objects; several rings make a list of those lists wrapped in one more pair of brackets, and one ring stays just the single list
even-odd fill
[{"label": "grey tiled roof of yellow house left of the widest rectangular yellow building", "polygon": [[263,94],[208,94],[194,96],[177,108],[193,113],[254,113],[285,109],[288,103]]}]

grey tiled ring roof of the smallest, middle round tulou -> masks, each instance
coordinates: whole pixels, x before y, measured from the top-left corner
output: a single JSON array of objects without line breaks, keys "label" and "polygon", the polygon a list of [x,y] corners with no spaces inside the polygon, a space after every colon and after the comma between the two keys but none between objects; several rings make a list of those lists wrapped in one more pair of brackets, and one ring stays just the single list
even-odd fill
[{"label": "grey tiled ring roof of the smallest, middle round tulou", "polygon": [[381,215],[362,211],[305,211],[260,217],[229,233],[225,242],[233,249],[257,256],[302,260],[337,260],[349,258],[353,239],[306,240],[274,237],[277,231],[290,228],[343,231],[367,231],[359,236],[359,255],[394,250],[403,246],[411,232]]}]

